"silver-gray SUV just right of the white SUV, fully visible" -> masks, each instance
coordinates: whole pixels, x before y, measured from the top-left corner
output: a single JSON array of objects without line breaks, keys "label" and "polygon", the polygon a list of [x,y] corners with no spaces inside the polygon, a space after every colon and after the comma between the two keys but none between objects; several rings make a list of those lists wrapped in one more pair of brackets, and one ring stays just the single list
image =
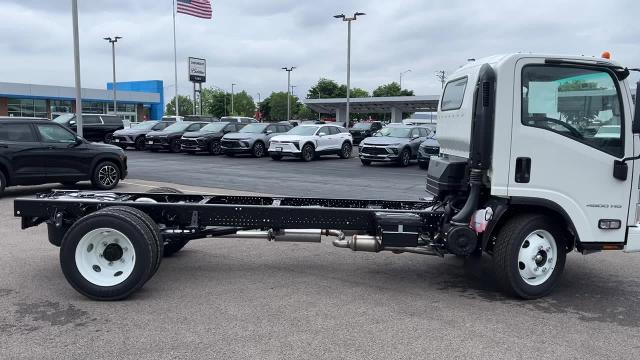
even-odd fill
[{"label": "silver-gray SUV just right of the white SUV, fully visible", "polygon": [[429,130],[420,126],[385,127],[374,136],[362,140],[359,146],[360,161],[365,166],[374,161],[408,166],[411,159],[417,159],[418,147],[428,135]]}]

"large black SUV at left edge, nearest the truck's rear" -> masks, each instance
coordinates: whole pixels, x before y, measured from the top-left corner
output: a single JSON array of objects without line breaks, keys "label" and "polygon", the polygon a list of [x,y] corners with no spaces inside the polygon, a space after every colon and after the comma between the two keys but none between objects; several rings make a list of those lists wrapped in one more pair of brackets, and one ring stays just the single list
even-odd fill
[{"label": "large black SUV at left edge, nearest the truck's rear", "polygon": [[0,120],[0,194],[7,186],[84,180],[110,190],[127,175],[127,157],[117,146],[90,143],[46,119]]}]

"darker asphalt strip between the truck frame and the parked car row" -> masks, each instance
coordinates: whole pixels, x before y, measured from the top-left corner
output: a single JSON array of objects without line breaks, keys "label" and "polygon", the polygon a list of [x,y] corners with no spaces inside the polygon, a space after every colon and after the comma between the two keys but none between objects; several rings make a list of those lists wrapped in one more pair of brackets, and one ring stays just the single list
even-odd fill
[{"label": "darker asphalt strip between the truck frame and the parked car row", "polygon": [[127,156],[132,179],[287,196],[415,200],[427,195],[427,172],[415,161],[407,168],[365,167],[356,151],[348,160],[327,155],[308,163],[294,158],[273,161],[135,150],[127,150]]}]

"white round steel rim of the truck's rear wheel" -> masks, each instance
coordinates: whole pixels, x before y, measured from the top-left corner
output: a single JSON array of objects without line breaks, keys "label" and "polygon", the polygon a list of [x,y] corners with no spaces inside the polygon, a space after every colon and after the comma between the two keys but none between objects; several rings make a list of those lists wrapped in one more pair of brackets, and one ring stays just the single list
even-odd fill
[{"label": "white round steel rim of the truck's rear wheel", "polygon": [[[119,251],[120,257],[117,256]],[[75,260],[80,275],[90,283],[115,286],[127,280],[133,272],[136,252],[131,240],[120,231],[99,228],[80,239]]]}]

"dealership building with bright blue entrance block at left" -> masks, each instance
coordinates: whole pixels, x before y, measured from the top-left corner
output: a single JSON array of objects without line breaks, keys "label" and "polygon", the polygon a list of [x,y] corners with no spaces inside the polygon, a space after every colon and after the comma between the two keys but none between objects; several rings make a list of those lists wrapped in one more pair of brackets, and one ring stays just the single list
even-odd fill
[{"label": "dealership building with bright blue entrance block at left", "polygon": [[[116,83],[118,114],[131,122],[158,120],[164,113],[161,80]],[[82,113],[113,113],[113,83],[106,89],[82,89]],[[76,111],[75,88],[0,82],[0,116],[51,118]]]}]

